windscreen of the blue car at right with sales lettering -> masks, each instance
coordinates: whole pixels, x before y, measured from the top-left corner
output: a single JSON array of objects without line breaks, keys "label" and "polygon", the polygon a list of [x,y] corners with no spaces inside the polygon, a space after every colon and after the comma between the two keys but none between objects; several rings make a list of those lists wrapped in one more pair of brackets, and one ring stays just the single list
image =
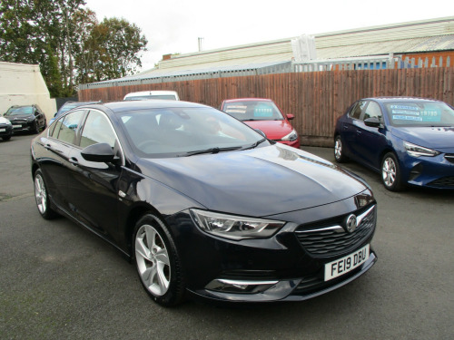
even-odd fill
[{"label": "windscreen of the blue car at right with sales lettering", "polygon": [[385,107],[392,125],[454,126],[454,110],[444,102],[389,102]]}]

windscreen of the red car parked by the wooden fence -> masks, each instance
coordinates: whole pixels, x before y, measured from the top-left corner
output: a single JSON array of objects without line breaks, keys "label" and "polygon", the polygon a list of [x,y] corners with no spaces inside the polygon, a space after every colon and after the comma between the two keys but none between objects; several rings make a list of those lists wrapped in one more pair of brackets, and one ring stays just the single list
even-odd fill
[{"label": "windscreen of the red car parked by the wooden fence", "polygon": [[273,102],[226,102],[222,111],[240,121],[282,121],[283,116]]}]

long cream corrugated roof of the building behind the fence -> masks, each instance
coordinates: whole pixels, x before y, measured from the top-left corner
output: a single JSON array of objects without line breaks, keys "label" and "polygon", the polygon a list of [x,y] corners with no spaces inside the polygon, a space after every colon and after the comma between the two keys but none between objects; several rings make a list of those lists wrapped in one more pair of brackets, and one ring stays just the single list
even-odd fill
[{"label": "long cream corrugated roof of the building behind the fence", "polygon": [[[279,67],[293,60],[291,40],[295,38],[297,37],[173,55],[171,59],[159,62],[157,68],[96,83],[96,87],[160,77],[234,73]],[[315,34],[315,46],[317,59],[454,50],[454,16]]]}]

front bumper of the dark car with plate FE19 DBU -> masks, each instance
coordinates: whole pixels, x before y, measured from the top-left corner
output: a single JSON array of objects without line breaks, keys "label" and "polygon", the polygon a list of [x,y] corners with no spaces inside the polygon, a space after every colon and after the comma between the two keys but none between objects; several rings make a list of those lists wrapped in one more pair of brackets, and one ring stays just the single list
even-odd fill
[{"label": "front bumper of the dark car with plate FE19 DBU", "polygon": [[[370,248],[369,257],[359,267],[340,277],[325,280],[325,265],[370,245],[377,220],[375,204],[367,207],[374,207],[368,215],[367,229],[362,226],[355,233],[345,232],[347,238],[342,235],[341,238],[312,235],[314,239],[321,237],[323,240],[316,245],[319,248],[311,248],[307,246],[311,239],[304,241],[297,235],[307,228],[318,231],[319,227],[339,225],[351,212],[360,214],[365,211],[365,208],[352,210],[347,206],[351,204],[337,202],[291,212],[287,214],[288,219],[281,219],[290,222],[274,237],[242,241],[216,238],[202,232],[187,211],[168,218],[167,222],[173,234],[177,235],[185,281],[194,296],[229,302],[297,301],[341,287],[360,277],[376,262],[377,256]],[[294,220],[301,214],[307,218],[321,212],[325,217],[318,218],[318,221],[307,219],[298,223]],[[327,242],[326,253],[323,253],[323,242]],[[330,250],[331,246],[334,246],[333,250]]]}]

